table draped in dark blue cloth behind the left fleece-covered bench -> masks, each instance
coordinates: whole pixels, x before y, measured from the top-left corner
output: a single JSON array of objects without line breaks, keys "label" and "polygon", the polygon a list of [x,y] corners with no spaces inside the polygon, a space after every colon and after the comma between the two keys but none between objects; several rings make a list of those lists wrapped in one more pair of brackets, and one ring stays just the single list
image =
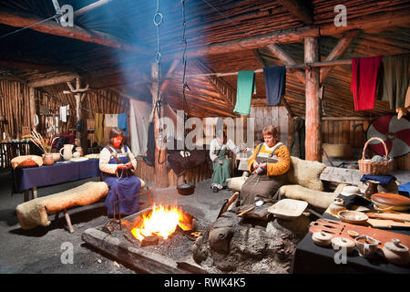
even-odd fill
[{"label": "table draped in dark blue cloth behind the left fleece-covered bench", "polygon": [[99,176],[100,173],[99,159],[88,159],[84,162],[55,162],[53,165],[17,168],[13,172],[13,193],[24,192],[26,202],[29,200],[30,190],[33,198],[37,197],[37,187],[79,181]]}]

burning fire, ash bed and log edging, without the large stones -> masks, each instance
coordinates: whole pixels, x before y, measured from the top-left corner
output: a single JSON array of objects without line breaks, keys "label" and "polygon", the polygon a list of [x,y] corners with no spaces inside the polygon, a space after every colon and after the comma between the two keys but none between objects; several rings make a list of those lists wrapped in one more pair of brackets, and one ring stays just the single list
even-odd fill
[{"label": "burning fire, ash bed and log edging, without the large stones", "polygon": [[113,224],[89,228],[82,239],[118,261],[148,273],[204,273],[190,260],[198,220],[181,208],[153,206]]}]

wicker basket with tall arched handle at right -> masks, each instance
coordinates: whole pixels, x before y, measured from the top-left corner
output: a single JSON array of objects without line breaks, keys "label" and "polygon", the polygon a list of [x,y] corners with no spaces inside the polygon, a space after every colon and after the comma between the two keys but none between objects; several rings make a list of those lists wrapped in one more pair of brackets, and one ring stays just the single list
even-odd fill
[{"label": "wicker basket with tall arched handle at right", "polygon": [[[371,162],[370,160],[365,160],[364,153],[366,151],[367,145],[374,140],[381,141],[384,146],[384,152],[385,152],[385,158],[384,162]],[[362,174],[370,174],[370,175],[385,175],[388,174],[390,171],[393,170],[393,161],[389,162],[388,161],[388,151],[387,147],[385,146],[385,143],[382,139],[378,137],[373,137],[370,138],[366,143],[364,144],[364,149],[363,149],[363,155],[362,159],[359,160],[359,172]]]}]

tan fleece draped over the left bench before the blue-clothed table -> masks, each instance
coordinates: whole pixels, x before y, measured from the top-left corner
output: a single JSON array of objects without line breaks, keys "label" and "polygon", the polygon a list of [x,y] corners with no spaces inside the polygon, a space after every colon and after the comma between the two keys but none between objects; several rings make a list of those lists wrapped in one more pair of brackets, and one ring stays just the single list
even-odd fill
[{"label": "tan fleece draped over the left bench before the blue-clothed table", "polygon": [[48,221],[48,214],[70,207],[96,203],[107,193],[107,183],[88,182],[64,192],[21,203],[17,205],[15,211],[22,229],[32,229],[37,225],[48,226],[51,223]]}]

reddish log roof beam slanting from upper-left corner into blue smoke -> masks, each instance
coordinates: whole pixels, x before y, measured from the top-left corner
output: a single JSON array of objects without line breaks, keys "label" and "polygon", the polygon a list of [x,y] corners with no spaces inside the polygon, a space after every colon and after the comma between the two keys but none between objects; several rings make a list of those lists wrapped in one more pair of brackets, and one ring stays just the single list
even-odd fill
[{"label": "reddish log roof beam slanting from upper-left corner into blue smoke", "polygon": [[[26,27],[43,20],[44,19],[39,16],[28,14],[26,12],[13,11],[5,8],[0,10],[0,24],[5,26]],[[31,26],[30,29],[48,35],[74,38],[88,43],[95,43],[101,46],[114,47],[136,53],[147,54],[146,52],[149,52],[149,50],[144,47],[125,44],[115,36],[110,36],[94,30],[87,30],[80,26],[62,27],[54,20],[47,20],[36,26]]]}]

